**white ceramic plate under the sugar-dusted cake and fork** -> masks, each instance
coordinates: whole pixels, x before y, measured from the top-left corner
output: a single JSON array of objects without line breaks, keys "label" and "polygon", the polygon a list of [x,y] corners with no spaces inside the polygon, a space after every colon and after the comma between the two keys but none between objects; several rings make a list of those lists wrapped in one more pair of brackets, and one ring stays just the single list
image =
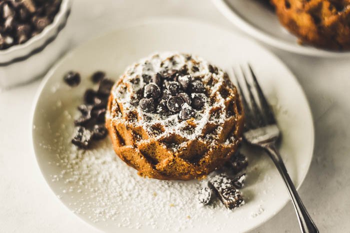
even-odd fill
[{"label": "white ceramic plate under the sugar-dusted cake and fork", "polygon": [[[216,203],[200,208],[193,197],[198,181],[144,179],[112,151],[109,139],[88,152],[70,139],[76,106],[87,78],[105,70],[116,78],[125,67],[155,51],[185,51],[219,65],[249,61],[274,106],[283,140],[280,151],[296,187],[306,176],[313,150],[307,100],[292,73],[258,44],[217,26],[183,19],[157,19],[93,39],[66,55],[44,78],[33,109],[32,140],[38,165],[62,203],[92,226],[109,232],[244,232],[276,215],[289,201],[266,155],[247,151],[246,205],[234,211]],[[62,76],[78,70],[83,78],[69,88]]]}]

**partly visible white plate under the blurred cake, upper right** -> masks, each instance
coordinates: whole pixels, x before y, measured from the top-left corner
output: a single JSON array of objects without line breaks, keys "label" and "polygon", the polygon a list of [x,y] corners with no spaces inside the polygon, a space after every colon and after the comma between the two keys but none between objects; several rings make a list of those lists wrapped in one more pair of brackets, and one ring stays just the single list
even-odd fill
[{"label": "partly visible white plate under the blurred cake, upper right", "polygon": [[271,46],[293,53],[319,57],[349,57],[350,52],[335,52],[300,45],[278,21],[273,10],[261,0],[212,0],[221,13],[241,30]]}]

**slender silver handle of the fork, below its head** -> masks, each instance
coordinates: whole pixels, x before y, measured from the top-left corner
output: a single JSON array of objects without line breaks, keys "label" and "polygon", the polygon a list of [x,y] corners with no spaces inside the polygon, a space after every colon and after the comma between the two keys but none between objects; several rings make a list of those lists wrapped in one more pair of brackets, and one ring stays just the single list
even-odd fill
[{"label": "slender silver handle of the fork, below its head", "polygon": [[300,230],[302,233],[318,233],[318,230],[311,220],[311,217],[306,211],[306,208],[301,202],[301,199],[299,195],[296,192],[295,186],[293,185],[293,182],[291,181],[288,172],[284,166],[283,160],[276,149],[276,146],[274,143],[266,143],[263,145],[263,148],[268,153],[272,161],[274,162],[274,165],[277,167],[279,174],[283,178],[284,184],[288,190],[290,199],[293,203],[294,210],[299,222]]}]

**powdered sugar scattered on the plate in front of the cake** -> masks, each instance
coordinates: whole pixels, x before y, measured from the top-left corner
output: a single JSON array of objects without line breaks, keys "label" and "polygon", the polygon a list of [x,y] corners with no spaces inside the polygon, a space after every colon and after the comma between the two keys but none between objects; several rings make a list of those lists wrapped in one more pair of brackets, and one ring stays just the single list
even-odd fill
[{"label": "powdered sugar scattered on the plate in front of the cake", "polygon": [[[138,176],[115,155],[109,139],[88,151],[77,149],[70,143],[73,127],[66,124],[75,111],[62,111],[46,128],[54,137],[54,145],[41,144],[52,155],[48,166],[58,171],[50,174],[50,182],[60,185],[57,197],[75,214],[96,224],[113,223],[116,228],[181,231],[205,228],[205,224],[194,223],[203,218],[215,222],[217,211],[227,219],[234,212],[218,200],[198,206],[196,194],[204,181],[160,181]],[[218,224],[217,231],[222,227]]]}]

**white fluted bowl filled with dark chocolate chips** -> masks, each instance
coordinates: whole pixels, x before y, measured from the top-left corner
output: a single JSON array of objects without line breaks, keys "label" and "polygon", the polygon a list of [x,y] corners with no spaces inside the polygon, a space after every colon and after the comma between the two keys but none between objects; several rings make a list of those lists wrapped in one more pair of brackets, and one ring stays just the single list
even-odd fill
[{"label": "white fluted bowl filled with dark chocolate chips", "polygon": [[69,43],[70,0],[0,0],[0,88],[42,75]]}]

